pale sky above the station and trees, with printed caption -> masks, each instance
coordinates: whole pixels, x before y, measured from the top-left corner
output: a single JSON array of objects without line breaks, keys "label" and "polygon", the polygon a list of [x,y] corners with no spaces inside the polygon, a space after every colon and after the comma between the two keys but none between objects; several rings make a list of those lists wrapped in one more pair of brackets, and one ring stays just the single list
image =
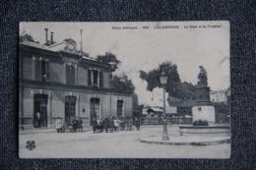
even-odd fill
[{"label": "pale sky above the station and trees, with printed caption", "polygon": [[165,61],[177,65],[181,82],[196,85],[202,65],[212,90],[230,85],[228,22],[21,23],[20,34],[31,34],[44,43],[44,28],[54,32],[56,42],[73,38],[78,50],[83,29],[83,51],[93,58],[105,52],[115,54],[121,61],[115,74],[132,80],[140,104],[159,105],[154,98],[162,90],[147,91],[139,71],[149,72]]}]

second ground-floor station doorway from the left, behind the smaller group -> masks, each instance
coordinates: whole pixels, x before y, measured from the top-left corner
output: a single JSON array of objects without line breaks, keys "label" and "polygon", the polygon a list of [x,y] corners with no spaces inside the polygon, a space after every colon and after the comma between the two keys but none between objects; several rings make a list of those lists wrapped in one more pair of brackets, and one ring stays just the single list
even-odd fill
[{"label": "second ground-floor station doorway from the left, behind the smaller group", "polygon": [[66,96],[65,97],[65,122],[71,125],[72,118],[76,116],[76,97]]}]

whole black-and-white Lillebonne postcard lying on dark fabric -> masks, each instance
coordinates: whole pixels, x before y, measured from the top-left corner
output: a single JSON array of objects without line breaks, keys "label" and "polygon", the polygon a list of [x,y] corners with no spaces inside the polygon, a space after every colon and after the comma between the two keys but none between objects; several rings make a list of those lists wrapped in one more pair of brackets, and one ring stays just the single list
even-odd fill
[{"label": "whole black-and-white Lillebonne postcard lying on dark fabric", "polygon": [[229,23],[21,23],[21,158],[229,158]]}]

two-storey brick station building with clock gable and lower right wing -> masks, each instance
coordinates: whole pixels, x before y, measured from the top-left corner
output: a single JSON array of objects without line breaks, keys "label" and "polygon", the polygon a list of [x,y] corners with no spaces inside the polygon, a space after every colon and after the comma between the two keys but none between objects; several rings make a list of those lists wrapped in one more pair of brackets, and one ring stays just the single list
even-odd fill
[{"label": "two-storey brick station building with clock gable and lower right wing", "polygon": [[93,118],[132,117],[132,91],[111,87],[109,64],[81,55],[73,39],[47,42],[20,42],[20,128],[53,128],[57,119],[70,124],[73,117],[83,126]]}]

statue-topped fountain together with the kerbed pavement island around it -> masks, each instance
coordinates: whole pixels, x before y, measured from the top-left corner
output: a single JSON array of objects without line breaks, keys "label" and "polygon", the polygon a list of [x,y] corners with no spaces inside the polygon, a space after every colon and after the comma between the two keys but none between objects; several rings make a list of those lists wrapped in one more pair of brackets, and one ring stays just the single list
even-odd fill
[{"label": "statue-topped fountain together with the kerbed pavement island around it", "polygon": [[[207,83],[207,72],[199,67],[199,82],[196,86],[196,104],[192,107],[192,125],[177,128],[177,134],[169,136],[169,140],[161,140],[158,136],[140,139],[141,142],[172,145],[208,145],[230,142],[229,125],[216,124],[215,106],[210,101],[210,87]],[[172,132],[173,133],[173,132]]]}]

